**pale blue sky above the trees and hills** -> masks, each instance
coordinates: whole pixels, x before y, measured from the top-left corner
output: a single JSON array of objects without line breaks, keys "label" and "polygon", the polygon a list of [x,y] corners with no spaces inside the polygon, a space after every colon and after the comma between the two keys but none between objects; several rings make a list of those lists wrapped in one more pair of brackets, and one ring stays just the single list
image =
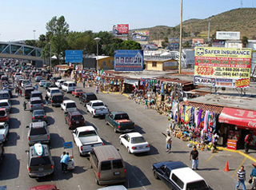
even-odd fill
[{"label": "pale blue sky above the trees and hills", "polygon": [[[256,7],[256,0],[183,0],[183,21],[241,8],[241,2]],[[0,42],[38,39],[54,16],[63,15],[70,31],[98,32],[114,24],[177,26],[180,10],[181,0],[0,0]]]}]

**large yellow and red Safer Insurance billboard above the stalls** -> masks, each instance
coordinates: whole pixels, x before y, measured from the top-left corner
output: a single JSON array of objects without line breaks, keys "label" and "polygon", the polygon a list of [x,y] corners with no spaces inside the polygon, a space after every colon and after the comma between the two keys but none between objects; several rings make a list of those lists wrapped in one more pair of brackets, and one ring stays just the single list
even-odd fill
[{"label": "large yellow and red Safer Insurance billboard above the stalls", "polygon": [[194,84],[244,88],[250,85],[250,48],[196,47]]}]

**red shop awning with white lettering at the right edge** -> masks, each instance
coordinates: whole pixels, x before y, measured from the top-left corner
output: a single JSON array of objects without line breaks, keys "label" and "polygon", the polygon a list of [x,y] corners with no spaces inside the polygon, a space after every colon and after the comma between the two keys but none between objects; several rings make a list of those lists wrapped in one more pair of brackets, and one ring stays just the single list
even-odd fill
[{"label": "red shop awning with white lettering at the right edge", "polygon": [[218,117],[220,123],[256,129],[256,112],[242,109],[224,108]]}]

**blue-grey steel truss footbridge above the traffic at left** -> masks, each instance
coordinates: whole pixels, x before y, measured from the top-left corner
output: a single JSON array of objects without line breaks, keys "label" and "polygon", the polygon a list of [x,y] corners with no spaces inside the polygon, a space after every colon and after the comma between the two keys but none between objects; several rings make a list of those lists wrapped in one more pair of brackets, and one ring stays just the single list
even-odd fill
[{"label": "blue-grey steel truss footbridge above the traffic at left", "polygon": [[41,48],[11,42],[0,42],[0,57],[42,61]]}]

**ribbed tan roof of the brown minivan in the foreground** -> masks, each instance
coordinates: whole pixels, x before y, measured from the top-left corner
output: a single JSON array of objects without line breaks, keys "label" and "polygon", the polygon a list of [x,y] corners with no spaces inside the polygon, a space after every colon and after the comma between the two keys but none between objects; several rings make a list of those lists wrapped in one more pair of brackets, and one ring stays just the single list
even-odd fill
[{"label": "ribbed tan roof of the brown minivan in the foreground", "polygon": [[113,145],[94,147],[94,153],[97,155],[98,160],[122,159],[117,148],[115,148]]}]

